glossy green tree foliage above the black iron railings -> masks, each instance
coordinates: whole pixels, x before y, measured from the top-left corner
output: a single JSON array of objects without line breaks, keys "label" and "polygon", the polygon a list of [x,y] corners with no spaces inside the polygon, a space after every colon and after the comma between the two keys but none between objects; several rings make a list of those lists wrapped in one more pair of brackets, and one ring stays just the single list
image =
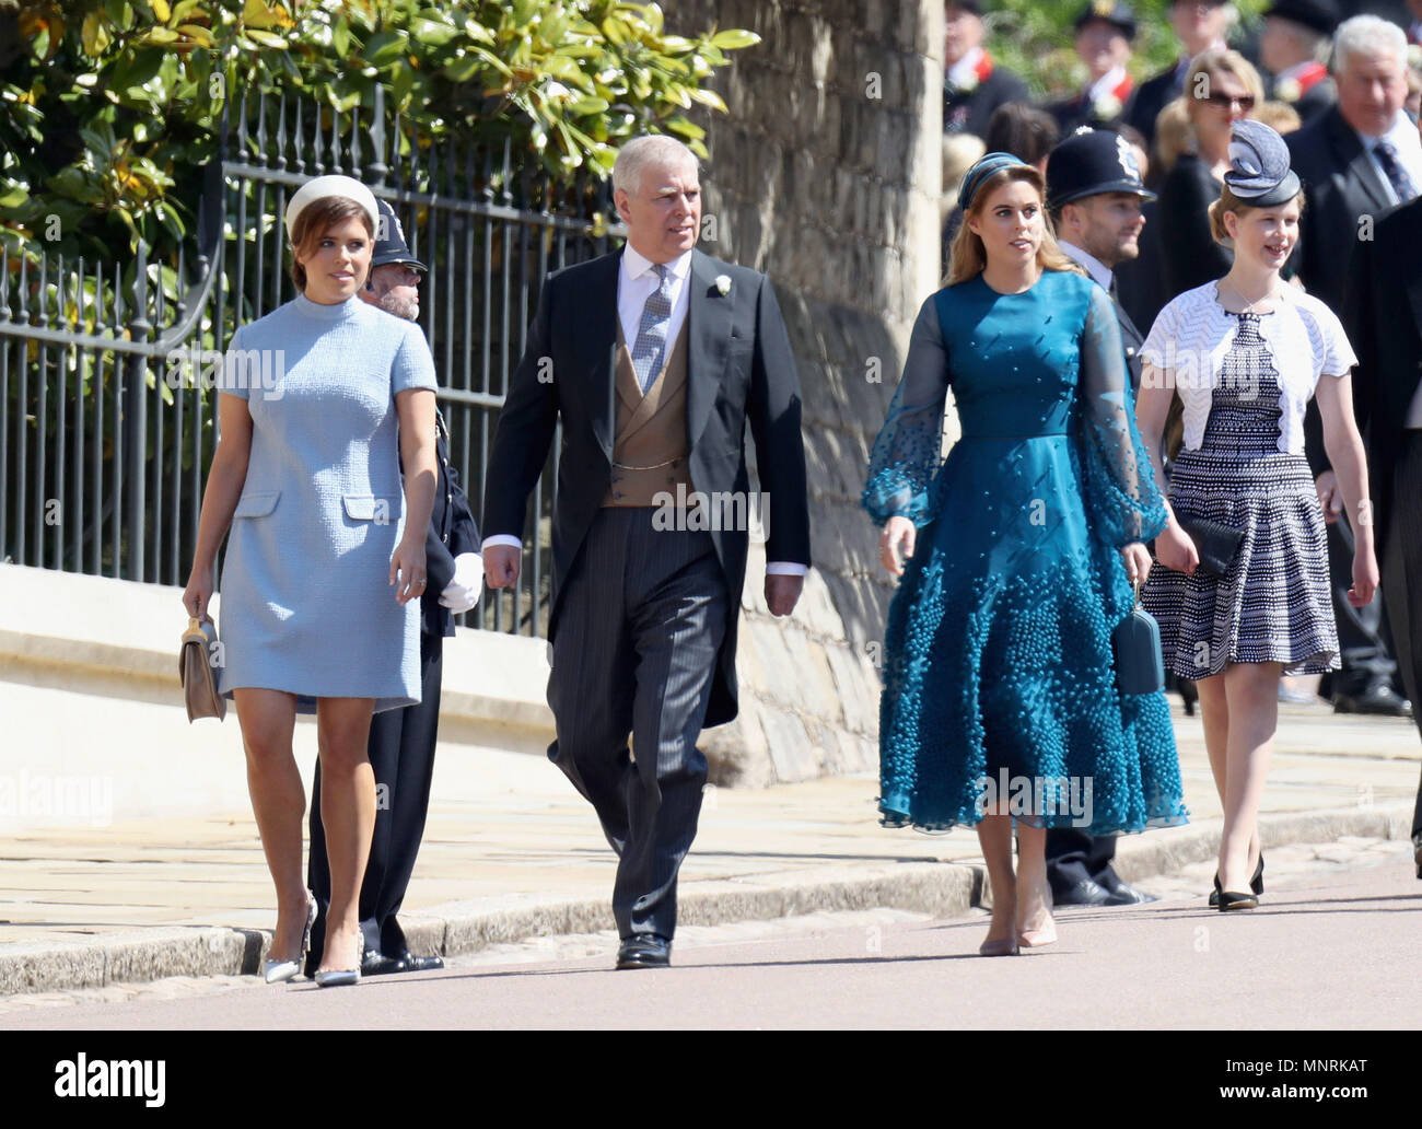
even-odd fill
[{"label": "glossy green tree foliage above the black iron railings", "polygon": [[614,0],[0,0],[0,237],[173,247],[225,105],[257,91],[338,112],[380,85],[422,138],[509,139],[559,179],[646,131],[705,155],[687,111],[725,111],[707,80],[755,43]]}]

